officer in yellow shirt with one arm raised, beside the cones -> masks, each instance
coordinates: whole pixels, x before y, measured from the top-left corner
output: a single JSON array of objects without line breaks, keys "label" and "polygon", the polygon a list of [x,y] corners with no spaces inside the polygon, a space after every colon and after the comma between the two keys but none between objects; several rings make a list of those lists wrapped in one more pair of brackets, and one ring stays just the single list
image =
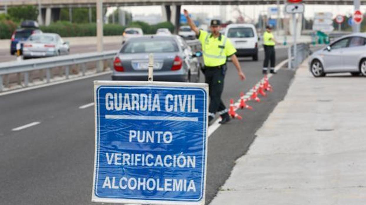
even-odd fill
[{"label": "officer in yellow shirt with one arm raised, beside the cones", "polygon": [[209,122],[213,120],[216,112],[218,112],[222,118],[219,123],[225,124],[230,121],[230,116],[228,109],[226,109],[221,100],[221,94],[224,89],[224,78],[227,70],[226,60],[228,57],[231,58],[236,70],[238,70],[240,80],[245,79],[238,58],[235,55],[236,49],[227,37],[221,35],[219,20],[211,21],[211,33],[208,33],[196,27],[189,17],[187,10],[184,10],[184,16],[187,18],[188,25],[196,33],[198,40],[202,44],[203,62],[205,64],[203,71],[205,74],[205,83],[209,85],[210,96]]}]

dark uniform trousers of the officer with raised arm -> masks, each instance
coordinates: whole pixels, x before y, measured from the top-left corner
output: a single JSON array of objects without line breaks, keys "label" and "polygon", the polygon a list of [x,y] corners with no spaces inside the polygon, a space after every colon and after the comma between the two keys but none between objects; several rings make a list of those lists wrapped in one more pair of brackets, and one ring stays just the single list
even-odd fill
[{"label": "dark uniform trousers of the officer with raised arm", "polygon": [[224,66],[224,70],[221,67],[205,67],[205,83],[209,86],[210,96],[209,113],[215,114],[216,112],[219,112],[221,117],[227,114],[226,107],[221,100],[226,72],[226,65]]}]

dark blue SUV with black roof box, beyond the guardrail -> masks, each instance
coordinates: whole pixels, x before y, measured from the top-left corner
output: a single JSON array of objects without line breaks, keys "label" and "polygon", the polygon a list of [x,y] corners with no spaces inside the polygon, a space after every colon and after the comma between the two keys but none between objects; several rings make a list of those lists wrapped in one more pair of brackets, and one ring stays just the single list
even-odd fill
[{"label": "dark blue SUV with black roof box, beyond the guardrail", "polygon": [[28,37],[33,33],[42,33],[38,29],[38,23],[35,21],[23,21],[20,26],[22,28],[16,29],[11,36],[10,54],[16,53],[16,44],[20,43],[20,53],[23,51],[23,41],[27,40]]}]

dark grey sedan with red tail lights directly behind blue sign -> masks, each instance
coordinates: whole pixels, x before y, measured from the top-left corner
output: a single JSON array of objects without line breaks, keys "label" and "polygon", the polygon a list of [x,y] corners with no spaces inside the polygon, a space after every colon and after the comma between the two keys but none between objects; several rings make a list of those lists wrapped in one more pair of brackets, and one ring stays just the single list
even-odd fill
[{"label": "dark grey sedan with red tail lights directly behind blue sign", "polygon": [[141,36],[122,45],[113,62],[112,80],[147,80],[149,54],[154,55],[154,80],[198,82],[200,52],[177,35]]}]

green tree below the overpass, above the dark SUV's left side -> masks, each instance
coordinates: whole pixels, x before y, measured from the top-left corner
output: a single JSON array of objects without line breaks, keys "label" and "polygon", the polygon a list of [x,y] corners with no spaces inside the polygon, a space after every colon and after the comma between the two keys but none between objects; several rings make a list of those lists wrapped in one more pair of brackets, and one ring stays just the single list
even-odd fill
[{"label": "green tree below the overpass, above the dark SUV's left side", "polygon": [[38,17],[38,8],[35,6],[17,6],[8,8],[10,18],[15,22],[24,20],[36,21]]}]

